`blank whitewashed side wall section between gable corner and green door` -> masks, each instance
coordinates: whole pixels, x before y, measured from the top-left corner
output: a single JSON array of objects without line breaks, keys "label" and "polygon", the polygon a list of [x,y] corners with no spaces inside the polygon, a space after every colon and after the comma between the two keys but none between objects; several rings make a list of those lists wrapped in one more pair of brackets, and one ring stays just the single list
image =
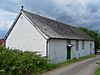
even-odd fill
[{"label": "blank whitewashed side wall section between gable corner and green door", "polygon": [[49,40],[48,50],[51,62],[57,63],[67,60],[66,40]]}]

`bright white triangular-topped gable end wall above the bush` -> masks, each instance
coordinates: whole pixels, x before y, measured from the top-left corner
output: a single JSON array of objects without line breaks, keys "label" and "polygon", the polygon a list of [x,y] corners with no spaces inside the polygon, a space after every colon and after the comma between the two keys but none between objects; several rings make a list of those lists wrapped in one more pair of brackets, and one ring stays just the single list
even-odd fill
[{"label": "bright white triangular-topped gable end wall above the bush", "polygon": [[46,39],[23,15],[7,38],[6,47],[23,51],[39,51],[43,56],[46,55]]}]

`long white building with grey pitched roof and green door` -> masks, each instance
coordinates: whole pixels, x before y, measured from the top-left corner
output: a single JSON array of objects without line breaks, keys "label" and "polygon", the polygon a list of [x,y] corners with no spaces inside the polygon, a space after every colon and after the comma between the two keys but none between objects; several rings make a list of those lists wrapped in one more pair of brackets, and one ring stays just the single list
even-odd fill
[{"label": "long white building with grey pitched roof and green door", "polygon": [[6,47],[37,51],[56,63],[94,53],[94,40],[78,28],[25,10],[20,11],[5,39]]}]

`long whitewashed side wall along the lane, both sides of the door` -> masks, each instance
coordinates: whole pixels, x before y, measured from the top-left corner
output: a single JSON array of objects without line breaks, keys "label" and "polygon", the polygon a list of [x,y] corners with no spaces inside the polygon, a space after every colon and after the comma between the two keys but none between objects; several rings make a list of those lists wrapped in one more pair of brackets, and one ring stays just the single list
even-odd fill
[{"label": "long whitewashed side wall along the lane, both sides of the door", "polygon": [[[58,63],[67,60],[67,40],[49,40],[49,59],[52,62]],[[90,50],[90,43],[92,43],[92,50]],[[71,58],[79,58],[82,56],[94,54],[94,42],[84,41],[84,49],[82,49],[82,41],[79,41],[79,50],[76,50],[76,40],[71,40]],[[92,51],[92,53],[91,53]]]}]

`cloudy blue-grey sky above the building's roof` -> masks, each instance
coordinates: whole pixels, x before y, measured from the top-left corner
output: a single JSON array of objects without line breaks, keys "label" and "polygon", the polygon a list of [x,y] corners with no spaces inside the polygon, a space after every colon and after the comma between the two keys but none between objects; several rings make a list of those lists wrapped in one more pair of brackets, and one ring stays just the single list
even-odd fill
[{"label": "cloudy blue-grey sky above the building's roof", "polygon": [[[100,0],[0,0],[0,30],[8,30],[20,7],[72,25],[99,26]],[[93,26],[93,25],[92,25]]]}]

